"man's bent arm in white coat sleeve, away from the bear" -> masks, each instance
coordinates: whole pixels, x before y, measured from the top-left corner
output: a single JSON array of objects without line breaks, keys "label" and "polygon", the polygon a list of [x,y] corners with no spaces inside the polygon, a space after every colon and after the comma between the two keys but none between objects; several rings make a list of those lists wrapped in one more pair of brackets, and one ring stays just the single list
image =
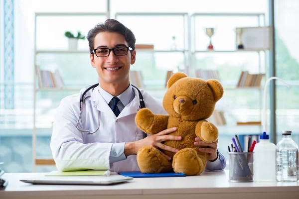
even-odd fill
[{"label": "man's bent arm in white coat sleeve, away from the bear", "polygon": [[77,117],[68,98],[57,108],[51,137],[51,151],[60,171],[110,169],[112,143],[84,144],[76,128]]}]

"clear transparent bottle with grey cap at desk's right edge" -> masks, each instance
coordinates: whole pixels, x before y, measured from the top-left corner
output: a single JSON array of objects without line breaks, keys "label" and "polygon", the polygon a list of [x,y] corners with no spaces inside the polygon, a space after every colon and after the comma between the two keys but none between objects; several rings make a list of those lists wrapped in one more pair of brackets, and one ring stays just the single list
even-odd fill
[{"label": "clear transparent bottle with grey cap at desk's right edge", "polygon": [[298,181],[298,145],[291,137],[292,131],[283,131],[276,146],[276,180]]}]

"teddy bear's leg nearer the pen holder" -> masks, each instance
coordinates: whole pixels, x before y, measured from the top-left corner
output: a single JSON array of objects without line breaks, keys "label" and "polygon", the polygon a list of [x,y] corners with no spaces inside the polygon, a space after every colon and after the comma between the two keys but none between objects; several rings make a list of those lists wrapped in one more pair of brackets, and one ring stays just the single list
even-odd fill
[{"label": "teddy bear's leg nearer the pen holder", "polygon": [[173,156],[172,167],[176,173],[194,176],[201,174],[205,165],[194,149],[184,148]]}]

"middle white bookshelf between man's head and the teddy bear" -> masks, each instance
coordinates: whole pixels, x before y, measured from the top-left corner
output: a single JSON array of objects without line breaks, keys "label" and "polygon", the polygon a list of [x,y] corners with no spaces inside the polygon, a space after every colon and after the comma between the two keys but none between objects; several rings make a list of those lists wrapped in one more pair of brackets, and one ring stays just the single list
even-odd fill
[{"label": "middle white bookshelf between man's head and the teddy bear", "polygon": [[[151,29],[152,23],[153,27],[156,26],[155,22],[151,21],[167,21],[169,23],[175,22],[178,24],[179,27],[182,27],[181,29],[176,29],[176,31],[179,31],[177,33],[172,27],[169,27],[167,25],[164,25],[163,27],[159,27],[159,30],[156,31],[152,29],[153,36],[152,38],[155,38],[155,33],[159,33],[158,37],[163,38],[161,41],[158,42],[157,40],[152,40],[152,38],[144,38],[144,40],[141,38],[140,35],[142,35],[142,31],[138,32],[138,25],[137,22],[132,23],[131,19],[142,19],[145,20],[144,23],[148,25],[148,28],[144,29],[144,31],[148,31],[147,29]],[[136,34],[137,36],[137,44],[136,44],[136,52],[137,52],[137,62],[131,66],[131,70],[140,70],[143,77],[144,82],[144,90],[149,92],[150,95],[153,97],[156,97],[158,99],[162,99],[166,88],[166,82],[169,78],[169,71],[181,71],[189,75],[188,67],[190,66],[189,63],[189,43],[188,43],[188,36],[189,36],[189,14],[187,12],[116,12],[115,13],[115,19],[120,20],[121,22],[127,24],[128,27]],[[168,24],[169,24],[168,23]],[[134,29],[136,28],[136,29]],[[165,35],[164,33],[167,32],[168,29],[173,30],[170,35]],[[137,30],[137,31],[136,31]],[[139,35],[138,35],[139,33]],[[171,39],[171,34],[176,35],[175,42],[176,46],[172,48],[172,43],[167,43]],[[178,36],[180,35],[180,36]],[[138,39],[139,36],[139,39]],[[141,38],[141,39],[140,39]],[[166,42],[167,40],[167,42]],[[145,45],[151,45],[150,47],[142,47],[139,46],[138,42],[144,42]],[[168,45],[169,44],[169,45]],[[138,63],[141,61],[141,57],[148,56],[148,62],[153,64],[148,64],[147,67],[143,66],[143,63]],[[158,63],[161,57],[166,56],[165,60],[175,58],[177,60],[180,60],[180,63],[176,63],[176,65],[173,64],[174,61],[171,63],[164,62],[163,64]],[[147,61],[147,58],[143,62]],[[149,69],[151,68],[151,71]],[[171,68],[173,67],[173,68]],[[156,74],[154,74],[152,71],[156,70]],[[165,74],[165,75],[164,75]]]}]

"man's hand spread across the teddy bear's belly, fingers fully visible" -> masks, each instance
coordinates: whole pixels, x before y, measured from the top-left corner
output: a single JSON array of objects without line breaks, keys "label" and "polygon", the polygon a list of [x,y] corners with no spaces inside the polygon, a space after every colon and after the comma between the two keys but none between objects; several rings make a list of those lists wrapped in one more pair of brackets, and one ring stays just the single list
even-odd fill
[{"label": "man's hand spread across the teddy bear's belly, fingers fully visible", "polygon": [[[129,155],[136,155],[138,150],[141,149],[144,146],[152,146],[155,148],[160,148],[166,151],[170,151],[173,153],[178,152],[178,149],[174,149],[170,146],[166,146],[162,144],[161,142],[166,140],[180,140],[182,139],[181,136],[175,136],[175,135],[167,135],[171,132],[174,132],[176,130],[176,127],[165,129],[159,133],[156,133],[154,135],[148,136],[144,139],[135,141],[135,142],[126,142],[125,144],[125,155],[128,157]],[[161,152],[161,154],[167,158],[168,160],[171,160],[171,158],[164,153]]]}]

